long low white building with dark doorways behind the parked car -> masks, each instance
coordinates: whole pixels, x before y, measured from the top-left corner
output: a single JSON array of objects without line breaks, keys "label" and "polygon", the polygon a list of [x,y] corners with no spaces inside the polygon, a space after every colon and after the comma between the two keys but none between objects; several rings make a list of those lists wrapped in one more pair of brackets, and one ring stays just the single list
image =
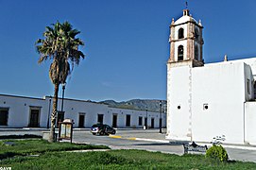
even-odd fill
[{"label": "long low white building with dark doorways behind the parked car", "polygon": [[[127,110],[92,101],[59,98],[58,118],[73,119],[74,127],[92,127],[95,123],[112,127],[166,127],[166,113],[149,110]],[[63,106],[63,107],[62,107]],[[51,96],[43,98],[0,94],[0,128],[50,127]],[[147,122],[147,123],[146,123]]]}]

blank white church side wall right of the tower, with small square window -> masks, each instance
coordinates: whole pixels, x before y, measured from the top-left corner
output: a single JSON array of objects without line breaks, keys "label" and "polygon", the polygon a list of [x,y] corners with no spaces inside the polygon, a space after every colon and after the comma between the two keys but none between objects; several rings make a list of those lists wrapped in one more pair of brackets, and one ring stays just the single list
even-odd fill
[{"label": "blank white church side wall right of the tower, with small square window", "polygon": [[193,140],[209,142],[225,135],[227,143],[244,144],[245,67],[243,62],[221,62],[193,69]]}]

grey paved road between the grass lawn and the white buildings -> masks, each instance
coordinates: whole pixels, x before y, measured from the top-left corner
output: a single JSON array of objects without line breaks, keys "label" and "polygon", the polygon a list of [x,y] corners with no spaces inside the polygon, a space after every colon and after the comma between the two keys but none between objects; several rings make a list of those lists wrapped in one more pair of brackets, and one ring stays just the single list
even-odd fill
[{"label": "grey paved road between the grass lawn and the white buildings", "polygon": [[[41,130],[31,129],[0,129],[0,136],[10,134],[37,134],[42,135]],[[150,151],[161,151],[162,153],[183,154],[183,146],[181,144],[169,143],[165,140],[165,130],[160,134],[158,129],[147,130],[124,130],[119,129],[113,137],[109,136],[94,136],[89,129],[75,130],[74,142],[84,144],[104,144],[109,145],[112,149],[143,149]],[[137,140],[135,140],[137,139]],[[256,147],[239,148],[238,145],[224,145],[227,149],[230,160],[237,161],[254,161],[256,162]],[[238,147],[238,148],[234,148]]]}]

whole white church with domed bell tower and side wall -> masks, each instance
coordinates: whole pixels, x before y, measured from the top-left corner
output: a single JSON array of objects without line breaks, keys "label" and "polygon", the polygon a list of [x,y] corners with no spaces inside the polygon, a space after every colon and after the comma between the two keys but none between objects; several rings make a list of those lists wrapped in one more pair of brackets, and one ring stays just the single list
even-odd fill
[{"label": "whole white church with domed bell tower and side wall", "polygon": [[202,30],[188,8],[170,25],[166,139],[256,144],[256,58],[205,64]]}]

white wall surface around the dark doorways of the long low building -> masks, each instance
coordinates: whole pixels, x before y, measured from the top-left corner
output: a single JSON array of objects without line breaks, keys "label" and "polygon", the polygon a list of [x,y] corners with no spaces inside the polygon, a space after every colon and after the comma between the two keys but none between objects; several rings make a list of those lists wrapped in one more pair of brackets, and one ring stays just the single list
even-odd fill
[{"label": "white wall surface around the dark doorways of the long low building", "polygon": [[[30,109],[37,108],[40,110],[39,127],[47,127],[48,116],[52,112],[52,99],[32,98],[15,95],[0,94],[0,109],[9,109],[8,126],[0,127],[29,127]],[[61,110],[61,98],[58,100],[58,110]],[[50,107],[50,108],[49,108]],[[50,109],[50,110],[49,110]],[[74,127],[79,125],[79,114],[84,114],[84,127],[92,127],[98,121],[98,114],[103,114],[103,123],[112,126],[112,115],[117,114],[117,127],[126,126],[126,115],[130,115],[129,127],[144,127],[145,110],[125,110],[110,108],[108,105],[98,104],[95,102],[64,99],[63,101],[64,118],[74,120]],[[143,125],[139,126],[139,116],[143,117]],[[159,127],[159,112],[147,111],[148,123],[151,127],[151,118],[154,118],[154,127]],[[50,121],[49,121],[50,122]],[[162,127],[166,127],[166,114],[162,113]]]}]

